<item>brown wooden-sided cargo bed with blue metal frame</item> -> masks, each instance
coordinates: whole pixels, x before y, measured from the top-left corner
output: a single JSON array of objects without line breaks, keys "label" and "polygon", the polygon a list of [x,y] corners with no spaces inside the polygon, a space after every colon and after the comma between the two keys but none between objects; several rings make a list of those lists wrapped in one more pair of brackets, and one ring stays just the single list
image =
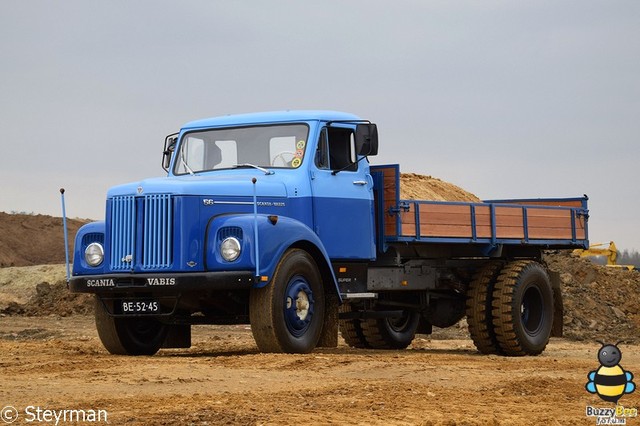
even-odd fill
[{"label": "brown wooden-sided cargo bed with blue metal frame", "polygon": [[588,247],[587,197],[484,202],[399,199],[399,166],[372,166],[384,242]]}]

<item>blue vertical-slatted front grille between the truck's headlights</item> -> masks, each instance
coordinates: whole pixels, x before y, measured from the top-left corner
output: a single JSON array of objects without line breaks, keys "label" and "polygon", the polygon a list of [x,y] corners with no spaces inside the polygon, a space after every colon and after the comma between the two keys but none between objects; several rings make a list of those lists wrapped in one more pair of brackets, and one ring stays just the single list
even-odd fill
[{"label": "blue vertical-slatted front grille between the truck's headlights", "polygon": [[[173,202],[169,194],[114,197],[111,201],[113,271],[166,269],[173,263]],[[141,225],[141,226],[138,226]],[[141,244],[140,250],[136,250]],[[140,259],[136,259],[136,254]]]}]

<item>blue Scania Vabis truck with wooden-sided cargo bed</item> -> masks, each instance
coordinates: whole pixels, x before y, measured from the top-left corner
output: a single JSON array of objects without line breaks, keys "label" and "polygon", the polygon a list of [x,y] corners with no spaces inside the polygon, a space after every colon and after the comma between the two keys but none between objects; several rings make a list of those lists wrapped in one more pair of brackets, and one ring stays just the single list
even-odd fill
[{"label": "blue Scania Vabis truck with wooden-sided cargo bed", "polygon": [[112,354],[187,348],[197,324],[251,325],[263,352],[403,349],[466,316],[481,353],[562,334],[547,249],[588,248],[587,197],[400,199],[370,165],[374,123],[334,111],[229,115],[165,140],[166,176],[112,187],[75,239]]}]

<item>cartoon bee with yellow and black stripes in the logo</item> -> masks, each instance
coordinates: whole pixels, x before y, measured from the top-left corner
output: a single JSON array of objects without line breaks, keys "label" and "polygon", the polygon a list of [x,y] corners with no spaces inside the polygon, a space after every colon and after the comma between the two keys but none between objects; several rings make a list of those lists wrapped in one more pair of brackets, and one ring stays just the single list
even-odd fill
[{"label": "cartoon bee with yellow and black stripes in the logo", "polygon": [[624,371],[619,365],[622,351],[618,345],[622,342],[615,345],[609,345],[599,340],[597,342],[602,345],[598,350],[600,368],[587,374],[589,381],[585,388],[589,393],[597,393],[602,400],[617,404],[622,395],[636,390],[636,385],[632,381],[633,374]]}]

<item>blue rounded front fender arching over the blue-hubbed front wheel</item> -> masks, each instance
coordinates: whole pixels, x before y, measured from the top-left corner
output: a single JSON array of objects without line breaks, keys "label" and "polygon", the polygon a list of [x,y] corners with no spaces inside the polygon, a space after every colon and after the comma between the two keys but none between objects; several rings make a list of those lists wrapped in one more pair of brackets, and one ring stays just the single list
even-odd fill
[{"label": "blue rounded front fender arching over the blue-hubbed front wheel", "polygon": [[[205,244],[205,268],[207,270],[242,270],[256,269],[255,225],[258,226],[258,267],[260,279],[256,287],[269,284],[276,266],[284,252],[294,245],[311,244],[316,253],[318,267],[324,263],[331,271],[333,284],[338,285],[331,269],[331,261],[318,236],[304,223],[286,216],[259,214],[221,215],[213,217],[207,226]],[[241,242],[242,252],[238,259],[226,262],[220,255],[220,243],[226,236],[235,236]],[[321,259],[317,257],[322,256]],[[266,278],[264,278],[266,277]]]}]

